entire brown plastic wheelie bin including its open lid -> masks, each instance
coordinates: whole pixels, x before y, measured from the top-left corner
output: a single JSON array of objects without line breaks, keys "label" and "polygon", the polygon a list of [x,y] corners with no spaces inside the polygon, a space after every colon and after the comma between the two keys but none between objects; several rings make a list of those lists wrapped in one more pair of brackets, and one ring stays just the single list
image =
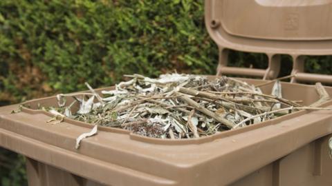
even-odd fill
[{"label": "entire brown plastic wheelie bin including its open lid", "polygon": [[[217,74],[275,79],[280,54],[293,57],[285,99],[304,105],[319,99],[314,85],[328,75],[304,72],[304,55],[332,54],[332,2],[273,0],[205,1],[205,23],[220,51]],[[264,52],[266,70],[227,66],[228,50]],[[270,93],[273,85],[263,92]],[[107,87],[104,90],[109,90]],[[325,87],[332,95],[332,87]],[[100,90],[98,90],[100,91]],[[329,138],[332,111],[302,110],[270,121],[203,138],[169,140],[98,127],[79,149],[75,139],[92,128],[65,118],[49,125],[38,105],[57,105],[55,96],[0,108],[0,145],[27,157],[29,185],[332,185]],[[326,101],[321,107],[329,107]]]}]

